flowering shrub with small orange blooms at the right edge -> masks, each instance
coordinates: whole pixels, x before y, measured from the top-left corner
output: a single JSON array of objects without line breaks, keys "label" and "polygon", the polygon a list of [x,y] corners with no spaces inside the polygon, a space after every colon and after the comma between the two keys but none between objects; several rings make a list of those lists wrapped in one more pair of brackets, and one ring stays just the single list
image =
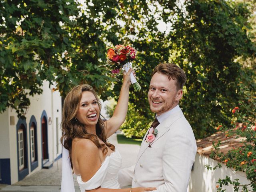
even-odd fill
[{"label": "flowering shrub with small orange blooms at the right edge", "polygon": [[[218,130],[222,132],[220,134],[226,134],[228,138],[240,138],[242,140],[240,146],[230,149],[227,154],[224,154],[220,151],[223,144],[220,141],[217,144],[213,143],[214,150],[210,157],[219,159],[236,172],[244,172],[249,182],[240,183],[238,179],[232,180],[228,175],[226,178],[218,179],[218,192],[226,191],[222,188],[223,186],[232,186],[234,191],[256,191],[256,97],[255,94],[252,94],[252,90],[242,82],[239,84],[238,90],[239,94],[243,94],[245,97],[232,110],[231,125],[229,127],[219,125]],[[222,165],[218,164],[213,168],[206,165],[208,170],[215,170],[218,167],[221,168]]]}]

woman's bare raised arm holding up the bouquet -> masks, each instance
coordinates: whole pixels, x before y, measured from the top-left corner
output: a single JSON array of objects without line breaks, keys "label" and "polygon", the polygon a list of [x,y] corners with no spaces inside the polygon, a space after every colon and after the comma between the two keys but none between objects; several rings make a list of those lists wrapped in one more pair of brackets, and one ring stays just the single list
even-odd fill
[{"label": "woman's bare raised arm holding up the bouquet", "polygon": [[124,123],[128,110],[128,100],[129,100],[129,88],[131,85],[130,82],[130,73],[132,68],[126,73],[124,72],[124,80],[116,108],[114,110],[113,116],[107,120],[105,123],[107,138],[114,134],[120,126]]}]

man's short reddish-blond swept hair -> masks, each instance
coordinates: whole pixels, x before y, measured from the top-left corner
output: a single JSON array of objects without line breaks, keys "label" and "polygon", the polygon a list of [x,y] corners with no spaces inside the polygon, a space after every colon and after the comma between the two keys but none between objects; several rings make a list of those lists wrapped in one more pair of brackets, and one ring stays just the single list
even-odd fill
[{"label": "man's short reddish-blond swept hair", "polygon": [[184,84],[186,83],[187,77],[184,72],[180,67],[178,67],[175,64],[172,63],[160,63],[158,64],[152,73],[152,76],[155,73],[161,73],[164,75],[168,76],[168,79],[170,80],[171,78],[173,80],[176,80],[176,86],[177,90],[180,90],[183,88]]}]

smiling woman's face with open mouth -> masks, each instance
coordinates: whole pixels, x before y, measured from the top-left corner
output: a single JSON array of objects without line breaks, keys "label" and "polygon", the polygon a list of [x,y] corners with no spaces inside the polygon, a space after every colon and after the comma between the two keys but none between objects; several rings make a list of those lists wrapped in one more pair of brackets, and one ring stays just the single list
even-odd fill
[{"label": "smiling woman's face with open mouth", "polygon": [[94,94],[90,91],[82,92],[82,98],[79,103],[77,120],[84,124],[86,128],[95,128],[100,116],[100,109]]}]

